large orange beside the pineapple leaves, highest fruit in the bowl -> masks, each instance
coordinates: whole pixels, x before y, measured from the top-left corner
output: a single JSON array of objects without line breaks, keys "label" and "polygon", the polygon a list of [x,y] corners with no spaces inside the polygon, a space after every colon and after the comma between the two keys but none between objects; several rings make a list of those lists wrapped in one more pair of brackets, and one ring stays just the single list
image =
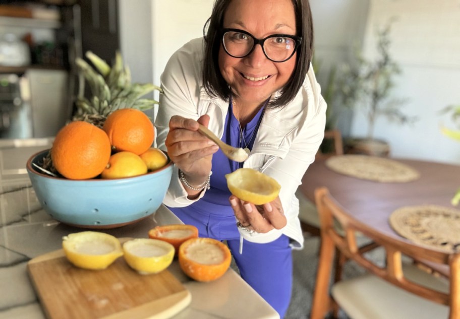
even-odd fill
[{"label": "large orange beside the pineapple leaves, highest fruit in the bowl", "polygon": [[134,108],[116,110],[107,116],[102,130],[117,151],[142,154],[153,144],[155,129],[144,112]]}]

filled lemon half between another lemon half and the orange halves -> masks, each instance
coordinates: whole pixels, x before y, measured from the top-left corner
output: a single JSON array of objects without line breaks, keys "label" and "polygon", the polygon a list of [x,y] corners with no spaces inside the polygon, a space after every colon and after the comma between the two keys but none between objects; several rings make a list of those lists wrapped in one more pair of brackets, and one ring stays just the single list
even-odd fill
[{"label": "filled lemon half between another lemon half and the orange halves", "polygon": [[136,238],[123,244],[128,265],[140,274],[156,274],[165,270],[174,258],[174,246],[158,239]]}]

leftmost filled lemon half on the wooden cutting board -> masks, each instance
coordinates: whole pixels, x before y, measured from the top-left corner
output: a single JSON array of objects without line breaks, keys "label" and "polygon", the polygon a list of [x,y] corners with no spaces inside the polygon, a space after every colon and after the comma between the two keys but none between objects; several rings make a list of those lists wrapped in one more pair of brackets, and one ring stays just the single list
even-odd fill
[{"label": "leftmost filled lemon half on the wooden cutting board", "polygon": [[116,237],[95,231],[64,236],[63,249],[73,265],[84,269],[105,269],[123,255]]}]

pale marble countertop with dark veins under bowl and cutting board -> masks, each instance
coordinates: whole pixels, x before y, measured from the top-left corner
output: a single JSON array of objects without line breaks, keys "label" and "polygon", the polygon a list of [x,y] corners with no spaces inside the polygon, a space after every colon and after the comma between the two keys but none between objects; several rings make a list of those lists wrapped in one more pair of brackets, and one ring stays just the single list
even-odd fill
[{"label": "pale marble countertop with dark veins under bowl and cutting board", "polygon": [[[19,147],[15,143],[0,143],[0,319],[45,317],[27,273],[27,262],[60,249],[63,236],[82,231],[53,220],[36,199],[25,164],[32,154],[49,147],[42,140],[37,143],[19,143]],[[148,230],[156,225],[178,222],[162,206],[136,224],[104,232],[116,237],[146,238]],[[175,319],[279,318],[233,269],[209,283],[188,278],[177,261],[168,270],[192,294],[191,304]]]}]

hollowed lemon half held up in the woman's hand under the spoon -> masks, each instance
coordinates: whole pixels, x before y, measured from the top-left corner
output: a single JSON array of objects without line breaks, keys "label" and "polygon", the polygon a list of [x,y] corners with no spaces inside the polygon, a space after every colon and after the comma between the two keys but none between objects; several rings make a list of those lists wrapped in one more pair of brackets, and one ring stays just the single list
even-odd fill
[{"label": "hollowed lemon half held up in the woman's hand under the spoon", "polygon": [[273,201],[281,186],[276,180],[252,168],[240,168],[225,175],[230,192],[245,202],[263,205]]}]

